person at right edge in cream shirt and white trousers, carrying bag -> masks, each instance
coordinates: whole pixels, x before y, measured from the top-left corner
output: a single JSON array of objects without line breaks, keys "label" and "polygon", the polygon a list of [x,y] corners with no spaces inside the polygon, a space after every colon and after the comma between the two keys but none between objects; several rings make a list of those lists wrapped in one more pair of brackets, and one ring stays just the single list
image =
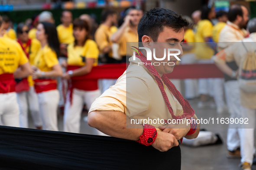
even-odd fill
[{"label": "person at right edge in cream shirt and white trousers, carrying bag", "polygon": [[[250,32],[249,38],[243,38],[241,41],[233,43],[229,47],[225,48],[224,50],[220,51],[215,57],[215,63],[220,68],[221,71],[226,73],[228,76],[238,77],[237,81],[234,81],[232,84],[236,91],[232,91],[233,93],[238,94],[237,98],[232,98],[233,102],[239,102],[237,104],[240,106],[240,110],[237,110],[236,107],[233,106],[233,110],[237,111],[239,115],[236,118],[239,120],[242,118],[245,123],[240,123],[240,127],[238,129],[238,134],[240,137],[240,148],[241,148],[241,170],[251,170],[251,165],[253,164],[253,154],[255,152],[254,149],[254,128],[256,122],[256,86],[253,84],[255,76],[250,74],[250,71],[247,69],[256,69],[256,68],[249,68],[246,67],[246,72],[244,72],[245,76],[243,76],[240,72],[245,65],[246,59],[248,59],[248,54],[255,53],[256,47],[256,18],[251,19],[248,22],[248,30]],[[250,57],[251,62],[250,64],[255,63],[255,56]],[[235,71],[231,69],[225,62],[235,61],[237,66],[239,66],[239,71]],[[244,68],[243,68],[244,69]],[[238,76],[237,76],[238,75]],[[246,77],[247,82],[244,83],[244,87],[241,86],[241,79]],[[243,79],[246,81],[245,79]],[[254,89],[253,89],[254,88]],[[246,90],[245,90],[246,89]],[[248,90],[247,90],[248,89]]]}]

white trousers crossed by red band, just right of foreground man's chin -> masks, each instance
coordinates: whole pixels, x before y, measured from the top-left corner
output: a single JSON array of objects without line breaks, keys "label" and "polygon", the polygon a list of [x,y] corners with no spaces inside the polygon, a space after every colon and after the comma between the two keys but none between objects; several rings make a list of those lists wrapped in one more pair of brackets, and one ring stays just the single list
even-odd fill
[{"label": "white trousers crossed by red band, just right of foreground man's chin", "polygon": [[[181,57],[181,64],[194,64],[194,63],[196,63],[194,53],[184,54]],[[184,79],[184,84],[185,84],[185,98],[191,99],[199,96],[197,79]]]}]

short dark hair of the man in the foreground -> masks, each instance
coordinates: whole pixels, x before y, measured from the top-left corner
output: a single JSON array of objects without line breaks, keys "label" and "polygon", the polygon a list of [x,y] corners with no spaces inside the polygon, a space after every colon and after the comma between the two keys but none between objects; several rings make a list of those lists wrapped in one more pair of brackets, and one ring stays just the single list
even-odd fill
[{"label": "short dark hair of the man in the foreground", "polygon": [[173,28],[179,32],[183,27],[188,27],[189,23],[170,9],[154,8],[146,12],[139,21],[138,36],[139,42],[142,42],[142,37],[147,35],[157,41],[160,32],[164,27]]}]

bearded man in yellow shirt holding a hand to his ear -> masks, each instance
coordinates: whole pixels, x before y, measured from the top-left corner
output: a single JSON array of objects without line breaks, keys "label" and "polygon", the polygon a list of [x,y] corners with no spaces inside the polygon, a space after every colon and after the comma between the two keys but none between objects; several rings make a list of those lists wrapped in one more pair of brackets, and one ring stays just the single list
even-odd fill
[{"label": "bearded man in yellow shirt holding a hand to his ear", "polygon": [[139,20],[137,9],[134,7],[126,9],[123,24],[110,38],[112,42],[119,44],[119,54],[121,56],[119,63],[128,62],[129,57],[133,55],[133,51],[129,49],[126,57],[126,42],[138,42],[137,27]]}]

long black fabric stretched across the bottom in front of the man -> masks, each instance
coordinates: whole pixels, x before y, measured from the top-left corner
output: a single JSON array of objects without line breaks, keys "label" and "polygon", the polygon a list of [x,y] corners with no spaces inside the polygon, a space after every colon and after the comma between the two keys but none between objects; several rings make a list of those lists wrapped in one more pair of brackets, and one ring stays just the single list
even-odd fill
[{"label": "long black fabric stretched across the bottom in front of the man", "polygon": [[109,136],[0,126],[0,170],[180,170],[181,150]]}]

